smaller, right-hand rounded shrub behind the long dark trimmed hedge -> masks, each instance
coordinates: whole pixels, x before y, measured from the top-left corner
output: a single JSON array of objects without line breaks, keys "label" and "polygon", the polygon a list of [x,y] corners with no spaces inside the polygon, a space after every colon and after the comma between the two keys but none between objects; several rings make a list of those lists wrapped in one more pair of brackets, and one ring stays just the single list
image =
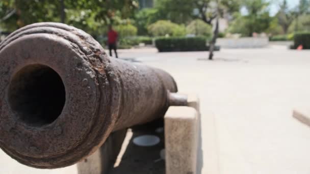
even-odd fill
[{"label": "smaller, right-hand rounded shrub behind the long dark trimmed hedge", "polygon": [[194,34],[196,36],[205,36],[209,38],[212,35],[212,26],[200,19],[193,20],[187,25],[186,30],[187,34]]}]

